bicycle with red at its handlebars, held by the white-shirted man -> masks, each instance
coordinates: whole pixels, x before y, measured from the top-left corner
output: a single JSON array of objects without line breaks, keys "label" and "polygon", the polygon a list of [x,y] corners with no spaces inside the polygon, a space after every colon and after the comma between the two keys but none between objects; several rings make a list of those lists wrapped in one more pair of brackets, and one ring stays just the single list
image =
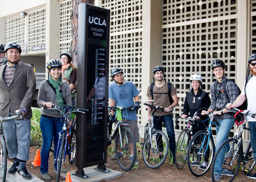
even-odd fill
[{"label": "bicycle with red at its handlebars, held by the white-shirted man", "polygon": [[[213,159],[213,166],[212,166],[212,181],[215,181],[214,178],[214,169],[215,169],[215,162],[219,156],[219,158],[221,158],[220,160],[223,161],[222,162],[222,169],[223,167],[225,168],[226,166],[229,166],[230,168],[232,168],[234,170],[234,175],[231,176],[227,176],[225,175],[225,179],[228,179],[229,181],[233,181],[240,169],[240,165],[243,162],[243,168],[242,168],[242,172],[245,175],[248,175],[251,173],[251,171],[254,168],[255,165],[255,160],[254,162],[251,164],[251,166],[249,166],[249,169],[247,169],[247,165],[249,164],[249,161],[254,159],[252,151],[250,151],[251,149],[251,142],[249,141],[246,147],[246,150],[244,152],[244,147],[243,147],[243,138],[242,138],[242,133],[244,131],[244,129],[246,130],[250,130],[249,128],[247,128],[245,125],[247,123],[247,119],[246,116],[251,116],[251,117],[255,117],[255,113],[250,113],[250,111],[240,111],[236,108],[231,110],[232,112],[236,112],[236,114],[234,115],[234,117],[236,118],[236,116],[241,113],[243,114],[243,119],[242,120],[237,120],[235,119],[235,126],[237,126],[235,133],[234,133],[234,137],[232,139],[228,139],[225,142],[223,142],[220,146],[220,148],[218,149],[218,151],[216,152],[216,155]],[[227,151],[227,145],[230,146],[230,149]],[[226,152],[225,152],[226,151]]]}]

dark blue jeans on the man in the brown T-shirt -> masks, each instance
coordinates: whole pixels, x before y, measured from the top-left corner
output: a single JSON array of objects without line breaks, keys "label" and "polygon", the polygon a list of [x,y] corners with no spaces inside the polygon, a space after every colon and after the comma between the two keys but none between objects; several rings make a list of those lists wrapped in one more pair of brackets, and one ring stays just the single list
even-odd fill
[{"label": "dark blue jeans on the man in the brown T-shirt", "polygon": [[172,115],[164,115],[164,116],[154,116],[154,128],[156,130],[161,130],[162,131],[162,123],[165,126],[167,130],[167,135],[169,138],[169,147],[171,154],[173,156],[173,160],[175,160],[175,133],[174,133],[174,127],[173,127],[173,119]]}]

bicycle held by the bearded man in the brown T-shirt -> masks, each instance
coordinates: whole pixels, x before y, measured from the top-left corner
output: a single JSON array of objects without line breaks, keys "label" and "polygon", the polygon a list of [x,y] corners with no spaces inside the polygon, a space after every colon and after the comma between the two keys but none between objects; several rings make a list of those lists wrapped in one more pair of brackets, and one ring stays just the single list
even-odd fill
[{"label": "bicycle held by the bearded man in the brown T-shirt", "polygon": [[145,127],[142,156],[148,168],[157,169],[164,163],[168,156],[169,143],[164,132],[154,128],[154,113],[157,110],[164,111],[164,109],[147,103],[153,101],[147,100],[143,103],[154,111],[151,114],[151,121],[148,121]]}]

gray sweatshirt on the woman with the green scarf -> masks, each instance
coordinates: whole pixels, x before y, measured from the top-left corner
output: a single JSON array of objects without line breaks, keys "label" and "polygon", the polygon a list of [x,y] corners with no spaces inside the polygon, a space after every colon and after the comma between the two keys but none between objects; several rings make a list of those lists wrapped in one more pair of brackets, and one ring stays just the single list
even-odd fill
[{"label": "gray sweatshirt on the woman with the green scarf", "polygon": [[[71,92],[70,92],[69,84],[67,81],[65,81],[65,80],[62,81],[61,89],[62,89],[64,104],[72,105]],[[61,113],[59,113],[58,111],[56,111],[54,109],[47,109],[46,107],[43,107],[43,105],[42,105],[43,102],[52,102],[54,105],[58,105],[56,93],[54,92],[52,87],[47,83],[46,80],[41,82],[40,87],[39,87],[39,92],[38,92],[37,104],[40,107],[42,107],[41,114],[50,116],[50,117],[56,117],[56,118],[61,117]]]}]

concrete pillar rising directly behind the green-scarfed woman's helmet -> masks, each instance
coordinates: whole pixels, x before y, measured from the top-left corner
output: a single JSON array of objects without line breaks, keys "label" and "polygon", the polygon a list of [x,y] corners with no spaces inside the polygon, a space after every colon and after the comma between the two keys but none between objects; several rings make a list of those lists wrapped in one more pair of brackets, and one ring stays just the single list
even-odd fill
[{"label": "concrete pillar rising directly behind the green-scarfed woman's helmet", "polygon": [[[59,1],[46,3],[46,63],[59,57]],[[46,75],[47,77],[48,75]]]}]

